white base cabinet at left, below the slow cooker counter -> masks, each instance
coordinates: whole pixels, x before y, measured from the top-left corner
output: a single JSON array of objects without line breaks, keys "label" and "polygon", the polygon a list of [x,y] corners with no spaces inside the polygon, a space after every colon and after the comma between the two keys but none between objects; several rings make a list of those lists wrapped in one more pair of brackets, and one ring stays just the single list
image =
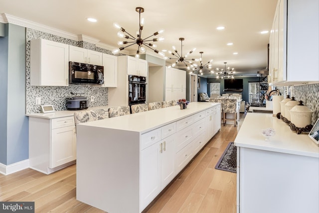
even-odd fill
[{"label": "white base cabinet at left, below the slow cooker counter", "polygon": [[29,117],[30,168],[50,174],[75,162],[74,117]]}]

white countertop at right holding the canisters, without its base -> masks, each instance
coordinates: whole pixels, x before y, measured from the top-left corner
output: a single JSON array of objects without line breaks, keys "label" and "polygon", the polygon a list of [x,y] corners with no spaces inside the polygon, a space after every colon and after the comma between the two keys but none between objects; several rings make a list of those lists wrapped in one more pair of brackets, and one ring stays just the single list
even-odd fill
[{"label": "white countertop at right holding the canisters, without its base", "polygon": [[[266,128],[276,131],[269,141],[261,134],[262,129]],[[272,114],[248,113],[234,142],[238,147],[319,158],[319,147],[308,134],[296,134]]]}]

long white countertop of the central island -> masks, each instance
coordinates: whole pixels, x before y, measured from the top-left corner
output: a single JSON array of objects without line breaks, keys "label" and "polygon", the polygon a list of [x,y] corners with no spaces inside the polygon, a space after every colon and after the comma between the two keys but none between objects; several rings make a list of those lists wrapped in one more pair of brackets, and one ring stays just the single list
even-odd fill
[{"label": "long white countertop of the central island", "polygon": [[191,102],[187,105],[187,108],[183,110],[180,110],[179,106],[172,106],[82,123],[78,124],[78,126],[83,125],[145,133],[219,104],[220,103],[213,102]]}]

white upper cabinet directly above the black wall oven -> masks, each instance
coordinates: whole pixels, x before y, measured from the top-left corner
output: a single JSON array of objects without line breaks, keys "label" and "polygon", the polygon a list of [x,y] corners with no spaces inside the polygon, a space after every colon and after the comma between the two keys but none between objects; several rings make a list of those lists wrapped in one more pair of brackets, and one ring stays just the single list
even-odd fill
[{"label": "white upper cabinet directly above the black wall oven", "polygon": [[146,60],[132,56],[124,57],[127,57],[128,75],[148,76],[148,62]]}]

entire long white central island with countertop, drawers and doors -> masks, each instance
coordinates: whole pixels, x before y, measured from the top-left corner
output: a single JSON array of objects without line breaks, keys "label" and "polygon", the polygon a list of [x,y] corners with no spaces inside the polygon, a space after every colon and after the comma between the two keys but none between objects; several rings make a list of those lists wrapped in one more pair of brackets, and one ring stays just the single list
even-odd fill
[{"label": "entire long white central island with countertop, drawers and doors", "polygon": [[220,108],[192,102],[77,125],[77,200],[142,212],[217,133]]}]

